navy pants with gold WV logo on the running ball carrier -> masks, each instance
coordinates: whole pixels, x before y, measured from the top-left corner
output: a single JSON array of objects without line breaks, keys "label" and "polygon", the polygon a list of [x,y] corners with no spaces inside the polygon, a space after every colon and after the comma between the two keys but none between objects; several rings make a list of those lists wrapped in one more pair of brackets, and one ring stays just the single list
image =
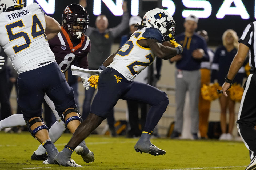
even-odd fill
[{"label": "navy pants with gold WV logo on the running ball carrier", "polygon": [[108,117],[118,99],[151,105],[143,131],[152,132],[169,103],[165,92],[145,83],[129,81],[113,68],[102,71],[98,91],[91,105],[91,113]]}]

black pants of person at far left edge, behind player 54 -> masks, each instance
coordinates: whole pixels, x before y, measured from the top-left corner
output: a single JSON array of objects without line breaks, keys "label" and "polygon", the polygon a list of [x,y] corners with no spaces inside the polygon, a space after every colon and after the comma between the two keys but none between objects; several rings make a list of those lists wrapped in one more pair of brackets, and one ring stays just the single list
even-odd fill
[{"label": "black pants of person at far left edge, behind player 54", "polygon": [[0,120],[11,116],[9,96],[9,80],[7,70],[5,69],[0,73]]}]

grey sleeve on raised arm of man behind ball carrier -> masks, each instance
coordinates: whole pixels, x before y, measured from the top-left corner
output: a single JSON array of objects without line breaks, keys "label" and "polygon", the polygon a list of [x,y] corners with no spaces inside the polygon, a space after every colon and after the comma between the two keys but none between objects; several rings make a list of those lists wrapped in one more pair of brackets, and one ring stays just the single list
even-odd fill
[{"label": "grey sleeve on raised arm of man behind ball carrier", "polygon": [[119,36],[123,31],[125,31],[125,29],[129,25],[129,19],[130,19],[129,13],[125,12],[123,13],[121,23],[118,24],[116,27],[109,29],[109,32],[111,32],[114,38]]}]

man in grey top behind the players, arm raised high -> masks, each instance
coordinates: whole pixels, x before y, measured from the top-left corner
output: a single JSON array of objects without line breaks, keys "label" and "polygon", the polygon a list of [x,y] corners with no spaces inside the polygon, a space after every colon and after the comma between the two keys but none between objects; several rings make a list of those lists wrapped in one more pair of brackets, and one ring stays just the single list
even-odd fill
[{"label": "man in grey top behind the players, arm raised high", "polygon": [[[110,56],[111,46],[114,42],[114,39],[121,35],[121,33],[127,28],[129,23],[129,13],[127,11],[127,2],[123,1],[123,16],[121,19],[121,23],[119,23],[114,28],[107,29],[109,22],[105,15],[99,15],[96,18],[95,25],[97,28],[88,27],[86,30],[86,35],[91,40],[91,52],[88,54],[88,67],[91,70],[98,70],[98,68],[102,65],[102,63]],[[83,103],[83,113],[82,118],[88,116],[91,108],[91,101],[93,98],[93,94],[95,92],[94,87],[89,87],[88,90],[85,90],[85,99]],[[110,116],[107,118],[109,128],[113,136],[115,136],[114,129],[114,111],[109,114]]]}]

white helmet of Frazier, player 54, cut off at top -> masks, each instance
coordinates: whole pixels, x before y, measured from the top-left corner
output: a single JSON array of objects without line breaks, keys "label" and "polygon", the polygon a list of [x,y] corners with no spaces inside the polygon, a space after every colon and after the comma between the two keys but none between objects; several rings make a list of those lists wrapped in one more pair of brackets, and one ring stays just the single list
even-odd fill
[{"label": "white helmet of Frazier, player 54, cut off at top", "polygon": [[6,10],[16,10],[25,5],[26,0],[0,0],[0,13]]}]

